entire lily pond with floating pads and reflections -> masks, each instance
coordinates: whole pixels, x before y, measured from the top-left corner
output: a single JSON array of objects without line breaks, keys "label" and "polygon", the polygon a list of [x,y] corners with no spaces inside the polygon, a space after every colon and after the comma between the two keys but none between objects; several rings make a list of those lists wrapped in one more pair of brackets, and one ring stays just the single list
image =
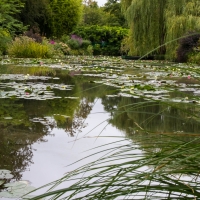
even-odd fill
[{"label": "entire lily pond with floating pads and reflections", "polygon": [[[88,162],[101,160],[112,148],[119,150],[119,157],[114,160],[106,157],[111,165],[122,163],[123,156],[128,162],[131,157],[137,160],[135,157],[140,155],[143,161],[144,158],[151,160],[139,165],[140,172],[142,168],[161,173],[161,168],[170,176],[179,176],[173,180],[187,186],[181,191],[175,190],[179,197],[180,194],[184,198],[198,197],[199,72],[199,67],[194,65],[103,56],[71,56],[63,60],[2,59],[0,198],[20,197],[33,187],[60,179]],[[130,144],[131,150],[123,150]],[[184,154],[178,151],[179,154],[174,155],[179,148],[184,149]],[[123,155],[129,151],[131,157]],[[152,161],[161,152],[166,157],[161,157],[159,162]],[[89,156],[91,154],[94,155]],[[191,154],[193,157],[187,160]],[[98,163],[97,168],[101,164]],[[130,167],[129,164],[126,167]],[[192,171],[176,171],[180,165],[185,166],[185,170],[191,168],[191,164]],[[182,179],[181,173],[187,178]],[[184,182],[194,178],[195,182]],[[19,191],[18,185],[18,192],[10,192],[12,186],[8,183],[16,181],[23,185],[20,185],[23,191]],[[158,180],[152,182],[155,185]],[[59,188],[70,184],[64,182]],[[151,188],[149,192],[161,190]],[[169,189],[165,191],[169,195]],[[147,195],[142,189],[137,191],[140,192],[141,199]],[[117,199],[121,195],[116,193],[113,197]],[[104,191],[97,199],[102,198],[111,197]]]}]

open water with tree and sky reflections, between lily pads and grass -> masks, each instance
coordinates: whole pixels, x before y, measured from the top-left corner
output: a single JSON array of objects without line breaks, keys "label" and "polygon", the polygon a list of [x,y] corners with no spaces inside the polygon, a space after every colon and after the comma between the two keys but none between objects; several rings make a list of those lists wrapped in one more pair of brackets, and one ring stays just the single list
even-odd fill
[{"label": "open water with tree and sky reflections, between lily pads and grass", "polygon": [[[11,170],[13,180],[27,180],[39,187],[98,158],[67,167],[89,155],[86,150],[139,132],[186,138],[198,134],[199,123],[191,117],[196,110],[190,105],[121,97],[115,88],[93,84],[87,77],[62,73],[57,77],[43,82],[73,86],[71,90],[54,88],[60,98],[0,99],[0,169]],[[181,111],[183,106],[188,112]]]}]

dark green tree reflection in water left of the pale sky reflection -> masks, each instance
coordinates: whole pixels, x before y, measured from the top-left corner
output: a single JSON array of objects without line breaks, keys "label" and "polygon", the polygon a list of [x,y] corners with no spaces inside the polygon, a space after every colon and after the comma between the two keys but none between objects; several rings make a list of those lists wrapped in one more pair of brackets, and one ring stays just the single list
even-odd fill
[{"label": "dark green tree reflection in water left of the pale sky reflection", "polygon": [[[68,75],[49,81],[74,85],[74,80]],[[32,144],[46,142],[44,136],[50,135],[51,130],[58,126],[58,122],[46,116],[72,116],[79,100],[64,97],[77,91],[76,86],[70,91],[55,90],[55,94],[63,98],[45,101],[0,99],[0,169],[11,170],[16,180],[21,178],[22,172],[32,163]]]}]

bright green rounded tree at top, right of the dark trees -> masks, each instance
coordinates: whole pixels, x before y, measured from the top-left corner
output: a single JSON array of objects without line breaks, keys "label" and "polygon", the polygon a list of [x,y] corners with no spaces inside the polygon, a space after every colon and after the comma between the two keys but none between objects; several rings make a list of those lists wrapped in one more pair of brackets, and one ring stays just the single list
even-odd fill
[{"label": "bright green rounded tree at top, right of the dark trees", "polygon": [[49,7],[51,35],[61,38],[70,33],[82,16],[81,0],[51,0]]}]

